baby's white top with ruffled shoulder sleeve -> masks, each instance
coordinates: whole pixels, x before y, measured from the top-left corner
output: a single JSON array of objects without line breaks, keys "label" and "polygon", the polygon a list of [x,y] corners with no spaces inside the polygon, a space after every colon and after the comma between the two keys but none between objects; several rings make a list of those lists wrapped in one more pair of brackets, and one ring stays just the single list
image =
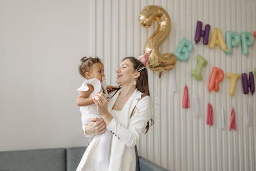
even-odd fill
[{"label": "baby's white top with ruffled shoulder sleeve", "polygon": [[[80,93],[80,92],[88,91],[89,90],[88,84],[94,87],[94,91],[90,94],[89,98],[91,98],[92,95],[94,95],[97,92],[102,92],[101,83],[97,78],[86,79],[85,81],[83,81],[82,86],[77,89],[77,92]],[[88,124],[90,122],[90,119],[100,118],[96,104],[81,106],[80,112],[82,114],[81,120],[83,124],[83,127],[82,127],[83,131],[85,129],[84,125]]]}]

